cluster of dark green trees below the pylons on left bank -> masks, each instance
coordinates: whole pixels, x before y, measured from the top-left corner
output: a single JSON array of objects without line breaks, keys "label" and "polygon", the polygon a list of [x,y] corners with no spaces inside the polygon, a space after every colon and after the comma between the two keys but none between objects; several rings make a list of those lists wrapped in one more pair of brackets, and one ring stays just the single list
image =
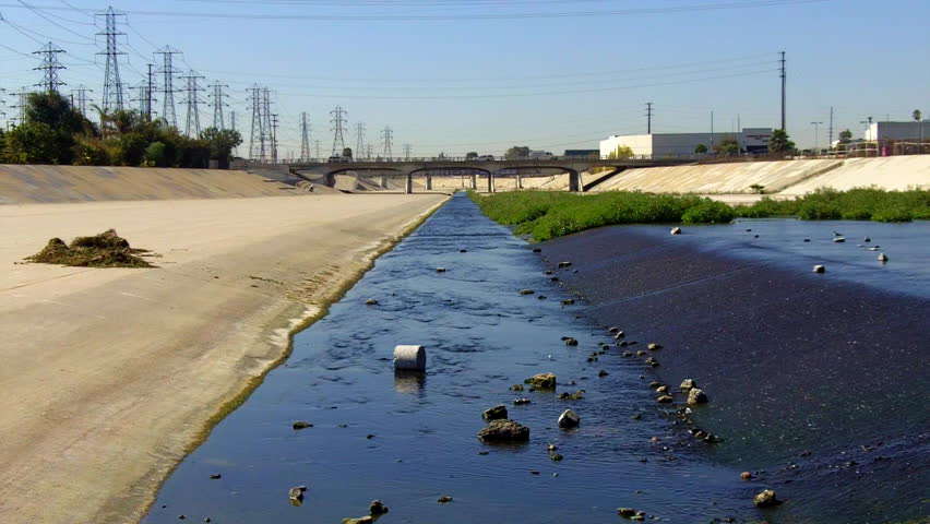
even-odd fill
[{"label": "cluster of dark green trees below the pylons on left bank", "polygon": [[95,109],[99,124],[57,92],[29,94],[23,121],[0,130],[0,163],[207,168],[216,160],[226,168],[242,143],[229,129],[207,128],[191,138],[136,110]]}]

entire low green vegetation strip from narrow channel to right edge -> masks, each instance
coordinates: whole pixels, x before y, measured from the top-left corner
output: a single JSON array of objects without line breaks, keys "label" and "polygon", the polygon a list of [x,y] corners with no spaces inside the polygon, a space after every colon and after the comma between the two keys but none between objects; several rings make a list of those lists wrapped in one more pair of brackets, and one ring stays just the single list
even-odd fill
[{"label": "entire low green vegetation strip from narrow channel to right edge", "polygon": [[726,224],[736,217],[795,216],[801,219],[910,222],[930,218],[930,191],[832,189],[791,201],[763,198],[749,206],[730,206],[693,194],[607,192],[597,194],[518,191],[469,193],[491,219],[514,226],[518,235],[546,241],[617,224]]}]

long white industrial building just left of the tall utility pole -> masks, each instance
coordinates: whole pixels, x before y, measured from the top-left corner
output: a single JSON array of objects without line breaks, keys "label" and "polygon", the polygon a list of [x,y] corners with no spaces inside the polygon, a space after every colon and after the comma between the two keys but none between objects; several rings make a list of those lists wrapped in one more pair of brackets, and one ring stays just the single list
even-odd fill
[{"label": "long white industrial building just left of the tall utility pole", "polygon": [[768,152],[772,128],[744,128],[739,133],[653,133],[613,135],[600,141],[600,156],[607,157],[617,147],[628,146],[636,158],[693,156],[699,144],[713,151],[714,144],[734,139],[748,153]]}]

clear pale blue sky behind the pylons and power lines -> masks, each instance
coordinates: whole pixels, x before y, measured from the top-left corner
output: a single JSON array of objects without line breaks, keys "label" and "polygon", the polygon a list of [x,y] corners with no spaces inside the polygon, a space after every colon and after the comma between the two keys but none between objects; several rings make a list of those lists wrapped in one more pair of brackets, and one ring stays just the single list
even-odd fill
[{"label": "clear pale blue sky behind the pylons and power lines", "polygon": [[[24,4],[25,2],[25,4]],[[34,9],[27,9],[29,5]],[[96,0],[0,0],[0,88],[38,82],[32,53],[51,39],[68,52],[65,94],[84,84],[99,98],[104,60],[94,53]],[[788,59],[788,132],[813,145],[813,121],[834,127],[930,116],[927,0],[121,0],[127,13],[123,82],[135,85],[154,46],[183,52],[192,68],[230,86],[230,109],[248,147],[246,88],[273,90],[281,156],[299,155],[300,112],[329,154],[329,111],[348,111],[381,151],[394,129],[395,156],[529,145],[557,154],[596,148],[609,134],[726,132],[778,127],[778,51]],[[683,8],[683,9],[678,9]],[[215,13],[217,16],[206,16]],[[540,16],[541,15],[541,16]],[[102,22],[99,20],[98,22]],[[20,31],[17,31],[17,28]],[[25,32],[25,34],[23,34]],[[28,36],[32,36],[29,38]],[[178,81],[177,85],[181,82]],[[8,117],[15,111],[0,93]],[[206,93],[202,94],[207,100]],[[183,96],[176,95],[183,128]],[[156,104],[160,109],[160,104]],[[2,118],[0,116],[0,118]],[[228,117],[227,117],[228,118]],[[212,110],[201,107],[201,122]],[[240,153],[243,152],[240,148]]]}]

